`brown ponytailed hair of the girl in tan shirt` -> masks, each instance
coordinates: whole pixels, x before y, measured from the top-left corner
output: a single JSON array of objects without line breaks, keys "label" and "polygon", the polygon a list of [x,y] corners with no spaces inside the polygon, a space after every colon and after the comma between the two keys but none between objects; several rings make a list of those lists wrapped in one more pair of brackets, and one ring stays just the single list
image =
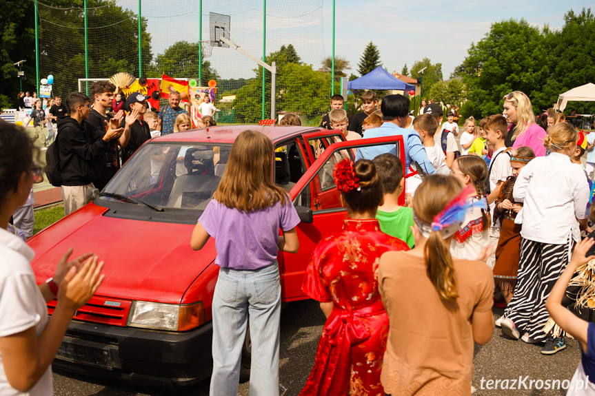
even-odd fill
[{"label": "brown ponytailed hair of the girl in tan shirt", "polygon": [[[416,218],[427,225],[432,224],[434,216],[443,211],[458,194],[463,186],[454,176],[430,175],[417,187],[413,197],[413,211]],[[454,264],[450,255],[450,244],[442,238],[441,231],[432,231],[427,238],[423,256],[427,267],[427,276],[434,284],[438,295],[444,300],[458,298],[458,286],[454,273]]]}]

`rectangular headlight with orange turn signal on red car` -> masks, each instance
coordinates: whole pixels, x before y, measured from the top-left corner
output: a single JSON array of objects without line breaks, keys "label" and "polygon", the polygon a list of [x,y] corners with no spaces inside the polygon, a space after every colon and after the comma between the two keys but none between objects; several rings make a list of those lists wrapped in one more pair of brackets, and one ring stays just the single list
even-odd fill
[{"label": "rectangular headlight with orange turn signal on red car", "polygon": [[187,331],[205,323],[205,304],[162,304],[134,301],[128,317],[128,326],[143,329]]}]

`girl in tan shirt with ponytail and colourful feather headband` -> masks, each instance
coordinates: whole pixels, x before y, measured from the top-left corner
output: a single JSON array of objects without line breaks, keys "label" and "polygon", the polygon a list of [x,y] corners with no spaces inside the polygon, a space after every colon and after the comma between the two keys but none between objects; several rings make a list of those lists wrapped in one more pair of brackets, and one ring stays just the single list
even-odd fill
[{"label": "girl in tan shirt with ponytail and colourful feather headband", "polygon": [[466,211],[478,205],[465,202],[467,195],[453,176],[427,176],[413,199],[414,249],[381,257],[379,291],[390,321],[381,374],[387,395],[471,393],[474,342],[487,343],[494,329],[494,278],[484,262],[450,255]]}]

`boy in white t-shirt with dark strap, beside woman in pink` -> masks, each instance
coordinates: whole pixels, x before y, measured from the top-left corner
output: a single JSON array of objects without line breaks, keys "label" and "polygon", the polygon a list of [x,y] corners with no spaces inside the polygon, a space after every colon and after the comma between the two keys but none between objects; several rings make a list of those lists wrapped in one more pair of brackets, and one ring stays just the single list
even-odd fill
[{"label": "boy in white t-shirt with dark strap, beside woman in pink", "polygon": [[[506,183],[508,176],[512,176],[512,167],[510,166],[510,149],[505,145],[506,135],[508,133],[508,124],[506,118],[501,114],[489,116],[487,122],[483,126],[485,131],[485,140],[488,145],[494,147],[490,167],[488,167],[488,180],[490,180],[487,190],[487,203],[490,204],[490,212],[494,213],[496,204],[494,201],[500,194],[500,189]],[[496,247],[498,246],[498,239],[500,239],[500,220],[495,220],[492,227],[490,227],[490,244],[494,247],[492,256],[487,263],[494,268],[496,264]]]}]

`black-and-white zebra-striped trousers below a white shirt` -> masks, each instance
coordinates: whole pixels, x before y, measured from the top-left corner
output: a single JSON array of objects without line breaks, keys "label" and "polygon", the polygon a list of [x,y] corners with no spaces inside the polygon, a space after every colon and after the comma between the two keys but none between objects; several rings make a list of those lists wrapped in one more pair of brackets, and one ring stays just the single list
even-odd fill
[{"label": "black-and-white zebra-striped trousers below a white shirt", "polygon": [[549,319],[545,300],[568,264],[568,244],[547,244],[521,238],[518,281],[504,316],[518,331],[545,342],[543,326]]}]

